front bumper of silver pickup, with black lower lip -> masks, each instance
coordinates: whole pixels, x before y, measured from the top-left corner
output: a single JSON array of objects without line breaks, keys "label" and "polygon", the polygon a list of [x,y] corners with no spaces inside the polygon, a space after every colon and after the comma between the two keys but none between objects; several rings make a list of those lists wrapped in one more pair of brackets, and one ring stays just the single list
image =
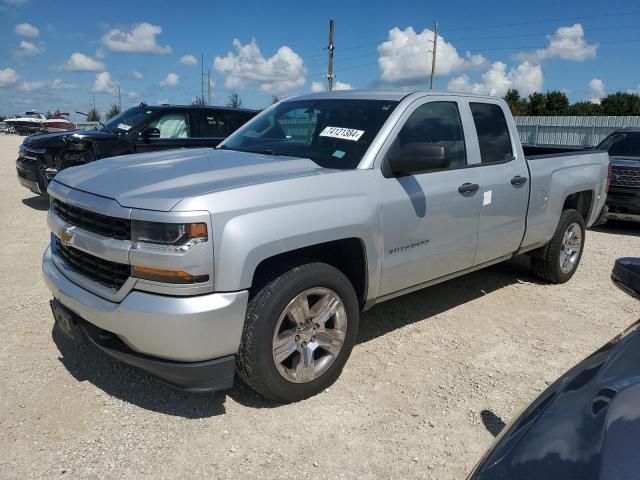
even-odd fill
[{"label": "front bumper of silver pickup, with black lower lip", "polygon": [[42,271],[77,331],[108,355],[182,389],[233,385],[248,291],[170,297],[134,290],[114,303],[65,277],[49,248]]}]

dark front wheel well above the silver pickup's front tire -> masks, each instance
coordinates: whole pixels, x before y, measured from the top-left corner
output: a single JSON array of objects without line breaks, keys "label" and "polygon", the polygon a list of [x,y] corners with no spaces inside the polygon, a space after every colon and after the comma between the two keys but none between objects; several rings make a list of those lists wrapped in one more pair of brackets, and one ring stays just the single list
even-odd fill
[{"label": "dark front wheel well above the silver pickup's front tire", "polygon": [[327,263],[340,270],[351,282],[360,307],[367,296],[367,258],[364,243],[359,238],[344,238],[291,250],[260,262],[253,274],[252,289],[262,285],[291,268],[308,262]]}]

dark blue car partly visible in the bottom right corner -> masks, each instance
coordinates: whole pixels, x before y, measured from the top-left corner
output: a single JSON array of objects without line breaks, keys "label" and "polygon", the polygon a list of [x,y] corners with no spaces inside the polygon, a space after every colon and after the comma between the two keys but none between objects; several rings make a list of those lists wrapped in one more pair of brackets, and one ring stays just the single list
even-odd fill
[{"label": "dark blue car partly visible in the bottom right corner", "polygon": [[[640,299],[640,258],[613,282]],[[556,380],[498,436],[469,480],[640,478],[640,320]]]}]

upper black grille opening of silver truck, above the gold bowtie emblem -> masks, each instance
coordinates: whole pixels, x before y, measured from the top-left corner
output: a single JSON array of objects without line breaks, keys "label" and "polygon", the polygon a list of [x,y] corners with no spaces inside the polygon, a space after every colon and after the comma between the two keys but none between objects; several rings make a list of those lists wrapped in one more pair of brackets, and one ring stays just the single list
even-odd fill
[{"label": "upper black grille opening of silver truck, above the gold bowtie emblem", "polygon": [[62,203],[56,199],[51,201],[51,209],[65,222],[89,232],[117,240],[131,239],[131,221],[125,218],[109,217],[90,212],[83,208]]}]

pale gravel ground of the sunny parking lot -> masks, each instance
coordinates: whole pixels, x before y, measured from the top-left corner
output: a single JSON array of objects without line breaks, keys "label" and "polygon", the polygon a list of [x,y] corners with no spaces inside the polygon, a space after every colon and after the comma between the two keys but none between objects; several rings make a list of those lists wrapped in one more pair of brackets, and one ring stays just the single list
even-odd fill
[{"label": "pale gravel ground of the sunny parking lot", "polygon": [[338,382],[304,402],[185,394],[52,331],[48,201],[15,179],[20,141],[0,136],[0,478],[463,478],[503,422],[639,316],[609,273],[640,254],[640,229],[608,225],[566,285],[516,259],[373,308]]}]

